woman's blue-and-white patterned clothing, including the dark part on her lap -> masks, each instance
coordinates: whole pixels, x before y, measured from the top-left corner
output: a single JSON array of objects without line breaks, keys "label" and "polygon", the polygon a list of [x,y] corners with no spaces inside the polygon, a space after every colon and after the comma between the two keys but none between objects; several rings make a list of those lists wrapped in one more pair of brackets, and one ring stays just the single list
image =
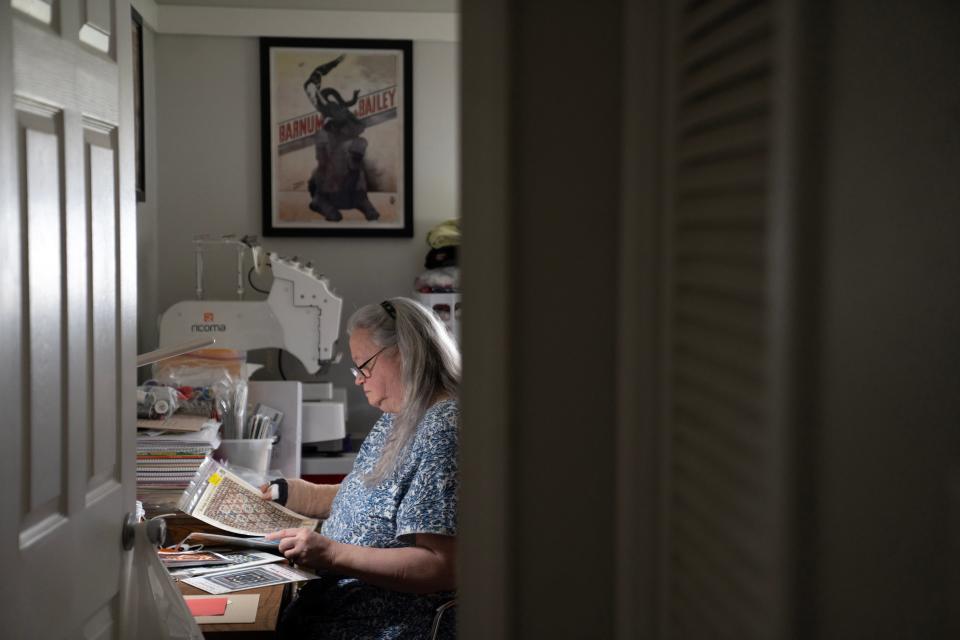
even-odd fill
[{"label": "woman's blue-and-white patterned clothing, including the dark part on her lap", "polygon": [[[394,415],[383,414],[340,485],[321,533],[338,542],[377,548],[410,546],[417,533],[456,535],[459,415],[454,400],[433,405],[393,475],[367,487],[364,477],[393,428]],[[284,612],[279,631],[289,638],[426,638],[437,607],[453,595],[400,593],[356,578],[324,575],[303,587]],[[440,637],[453,637],[453,618],[453,610],[444,614]]]}]

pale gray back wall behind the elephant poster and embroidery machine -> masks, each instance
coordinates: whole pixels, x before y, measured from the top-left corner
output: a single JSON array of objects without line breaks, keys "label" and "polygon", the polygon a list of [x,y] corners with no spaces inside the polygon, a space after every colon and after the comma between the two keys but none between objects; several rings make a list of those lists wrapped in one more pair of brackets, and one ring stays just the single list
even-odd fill
[{"label": "pale gray back wall behind the elephant poster and embroidery machine", "polygon": [[[457,45],[418,41],[413,61],[414,237],[261,239],[268,250],[312,261],[329,277],[344,301],[343,322],[364,304],[410,295],[423,270],[426,232],[459,214]],[[156,149],[163,185],[156,231],[161,256],[156,298],[162,312],[193,297],[194,235],[261,233],[258,41],[158,34],[155,64]],[[234,264],[232,252],[209,254],[208,297],[232,299]],[[258,297],[248,299],[254,296]],[[152,325],[155,317],[144,313],[144,335]],[[346,343],[341,332],[345,351]],[[273,368],[276,356],[263,357]],[[352,388],[349,359],[344,353],[328,379]],[[283,367],[288,377],[304,375],[289,355],[283,358]],[[355,388],[350,391],[349,411],[352,433],[365,433],[379,414]]]}]

